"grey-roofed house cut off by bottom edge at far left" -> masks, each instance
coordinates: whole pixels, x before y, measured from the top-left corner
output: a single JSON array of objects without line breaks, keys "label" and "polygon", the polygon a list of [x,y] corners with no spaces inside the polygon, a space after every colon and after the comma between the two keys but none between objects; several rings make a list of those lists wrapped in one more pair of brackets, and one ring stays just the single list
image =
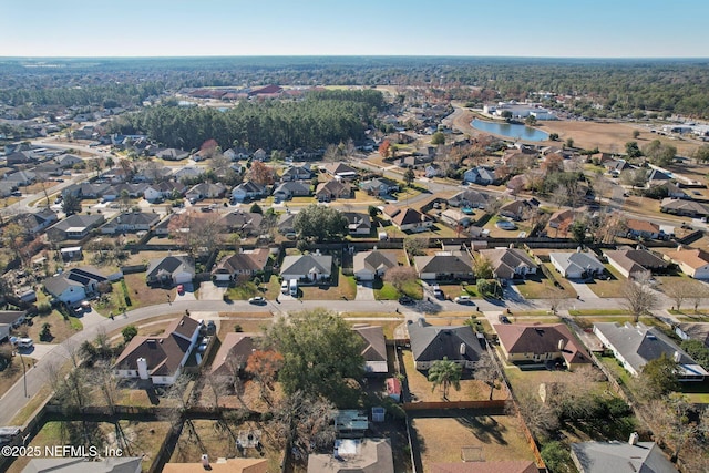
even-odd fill
[{"label": "grey-roofed house cut off by bottom edge at far left", "polygon": [[141,473],[142,456],[32,459],[22,473]]}]

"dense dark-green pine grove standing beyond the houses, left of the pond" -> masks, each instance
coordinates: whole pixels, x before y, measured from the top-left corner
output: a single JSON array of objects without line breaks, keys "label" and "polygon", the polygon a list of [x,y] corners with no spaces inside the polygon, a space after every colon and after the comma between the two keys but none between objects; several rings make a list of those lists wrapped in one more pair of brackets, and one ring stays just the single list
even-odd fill
[{"label": "dense dark-green pine grove standing beyond the houses, left of the pond", "polygon": [[146,133],[171,147],[197,148],[209,138],[223,150],[294,151],[360,140],[384,106],[374,90],[310,92],[301,101],[242,102],[219,111],[212,107],[152,106],[122,116],[109,132]]}]

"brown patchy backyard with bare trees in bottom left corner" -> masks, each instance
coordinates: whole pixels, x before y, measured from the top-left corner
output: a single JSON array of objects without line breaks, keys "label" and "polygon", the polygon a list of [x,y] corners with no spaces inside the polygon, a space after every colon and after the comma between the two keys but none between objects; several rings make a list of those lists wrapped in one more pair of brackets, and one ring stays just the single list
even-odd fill
[{"label": "brown patchy backyard with bare trees in bottom left corner", "polygon": [[[156,459],[169,431],[168,422],[47,422],[32,439],[30,446],[94,445],[103,456],[104,449],[122,449],[125,456],[143,456],[143,471]],[[31,460],[20,457],[8,472],[19,473]]]}]

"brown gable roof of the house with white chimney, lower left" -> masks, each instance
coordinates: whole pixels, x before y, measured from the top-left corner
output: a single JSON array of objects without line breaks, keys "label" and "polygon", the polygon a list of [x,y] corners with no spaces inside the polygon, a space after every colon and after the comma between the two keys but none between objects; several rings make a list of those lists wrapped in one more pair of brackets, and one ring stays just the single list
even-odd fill
[{"label": "brown gable roof of the house with white chimney, lower left", "polygon": [[137,369],[137,359],[144,358],[150,376],[174,376],[191,348],[192,336],[196,330],[199,330],[199,322],[183,316],[167,326],[161,336],[133,337],[116,359],[115,368]]}]

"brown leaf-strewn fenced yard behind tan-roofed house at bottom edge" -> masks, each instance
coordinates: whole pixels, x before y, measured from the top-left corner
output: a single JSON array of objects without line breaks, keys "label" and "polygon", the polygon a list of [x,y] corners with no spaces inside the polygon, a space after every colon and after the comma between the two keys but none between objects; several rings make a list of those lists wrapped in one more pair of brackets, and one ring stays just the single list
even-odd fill
[{"label": "brown leaf-strewn fenced yard behind tan-roofed house at bottom edge", "polygon": [[[257,451],[255,448],[247,448],[239,452],[236,448],[239,433],[256,431],[261,432],[263,449]],[[261,422],[236,424],[232,421],[194,420],[185,423],[169,461],[197,464],[205,453],[210,459],[264,457],[268,461],[269,472],[279,472],[282,445],[275,443],[277,442],[275,439],[278,436],[268,430],[266,423]]]}]

